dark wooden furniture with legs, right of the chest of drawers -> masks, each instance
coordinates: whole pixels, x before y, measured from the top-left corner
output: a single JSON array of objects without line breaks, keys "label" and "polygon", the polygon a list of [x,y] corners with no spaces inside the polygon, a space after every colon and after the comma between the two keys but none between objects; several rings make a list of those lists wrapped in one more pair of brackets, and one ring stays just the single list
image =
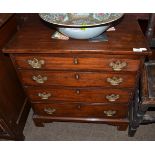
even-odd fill
[{"label": "dark wooden furniture with legs, right of the chest of drawers", "polygon": [[155,117],[146,114],[150,107],[155,107],[154,72],[155,63],[145,63],[140,87],[130,107],[129,136],[134,136],[140,124],[155,123]]}]

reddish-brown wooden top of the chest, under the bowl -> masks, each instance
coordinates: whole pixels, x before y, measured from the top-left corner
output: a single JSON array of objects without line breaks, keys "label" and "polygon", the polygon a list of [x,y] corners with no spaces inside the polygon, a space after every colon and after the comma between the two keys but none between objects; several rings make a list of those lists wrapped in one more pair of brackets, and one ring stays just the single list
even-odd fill
[{"label": "reddish-brown wooden top of the chest, under the bowl", "polygon": [[[30,16],[21,30],[3,49],[4,53],[103,53],[103,54],[145,54],[148,48],[137,20],[125,15],[116,31],[106,32],[108,41],[89,42],[88,40],[56,40],[51,35],[55,31],[38,14]],[[133,52],[133,48],[147,48],[146,52]]]}]

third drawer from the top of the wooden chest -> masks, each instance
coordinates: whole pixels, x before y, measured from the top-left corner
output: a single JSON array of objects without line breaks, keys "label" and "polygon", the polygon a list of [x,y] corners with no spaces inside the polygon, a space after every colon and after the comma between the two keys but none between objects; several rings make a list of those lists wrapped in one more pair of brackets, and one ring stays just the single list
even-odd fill
[{"label": "third drawer from the top of the wooden chest", "polygon": [[28,87],[31,101],[118,102],[128,103],[130,93],[121,89]]}]

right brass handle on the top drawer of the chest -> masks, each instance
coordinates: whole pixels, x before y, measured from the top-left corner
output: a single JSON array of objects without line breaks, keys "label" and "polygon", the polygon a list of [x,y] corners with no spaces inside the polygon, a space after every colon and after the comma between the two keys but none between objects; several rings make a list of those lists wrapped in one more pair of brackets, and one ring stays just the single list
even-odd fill
[{"label": "right brass handle on the top drawer of the chest", "polygon": [[117,60],[115,62],[111,62],[109,66],[114,70],[114,71],[121,71],[123,68],[127,67],[127,62],[122,62],[120,60]]}]

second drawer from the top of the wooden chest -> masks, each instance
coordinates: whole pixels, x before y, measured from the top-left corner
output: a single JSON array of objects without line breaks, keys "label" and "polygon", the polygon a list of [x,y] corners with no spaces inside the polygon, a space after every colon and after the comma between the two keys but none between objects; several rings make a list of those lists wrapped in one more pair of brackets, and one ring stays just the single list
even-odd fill
[{"label": "second drawer from the top of the wooden chest", "polygon": [[101,72],[60,72],[20,70],[24,85],[35,86],[93,86],[93,87],[126,87],[135,85],[136,73],[118,74]]}]

